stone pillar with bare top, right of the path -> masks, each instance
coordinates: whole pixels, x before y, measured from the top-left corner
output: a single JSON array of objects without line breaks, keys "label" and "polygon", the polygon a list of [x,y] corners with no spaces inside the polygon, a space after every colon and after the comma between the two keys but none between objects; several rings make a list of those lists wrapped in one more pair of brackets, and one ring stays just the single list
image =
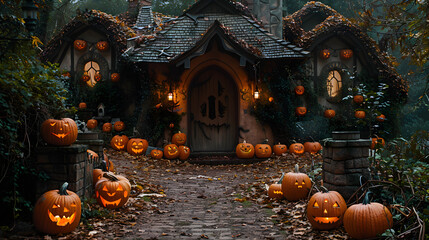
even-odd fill
[{"label": "stone pillar with bare top, right of the path", "polygon": [[332,132],[323,149],[323,185],[344,199],[360,187],[360,177],[369,179],[370,139],[360,139],[355,131]]}]

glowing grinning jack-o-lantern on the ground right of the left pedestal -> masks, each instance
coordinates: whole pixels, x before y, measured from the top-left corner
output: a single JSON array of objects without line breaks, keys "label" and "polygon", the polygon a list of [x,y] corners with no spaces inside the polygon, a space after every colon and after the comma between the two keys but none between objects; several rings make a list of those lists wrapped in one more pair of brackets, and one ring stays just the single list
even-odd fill
[{"label": "glowing grinning jack-o-lantern on the ground right of the left pedestal", "polygon": [[97,202],[108,209],[122,207],[130,197],[131,184],[123,176],[104,173],[95,185]]}]

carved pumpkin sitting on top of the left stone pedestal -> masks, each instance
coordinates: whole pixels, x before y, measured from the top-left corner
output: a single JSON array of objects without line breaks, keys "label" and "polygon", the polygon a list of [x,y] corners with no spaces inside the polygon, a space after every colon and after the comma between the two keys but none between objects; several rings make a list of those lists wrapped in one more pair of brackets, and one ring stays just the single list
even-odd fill
[{"label": "carved pumpkin sitting on top of the left stone pedestal", "polygon": [[40,129],[45,142],[56,146],[68,146],[77,139],[77,125],[71,118],[61,120],[48,119]]}]

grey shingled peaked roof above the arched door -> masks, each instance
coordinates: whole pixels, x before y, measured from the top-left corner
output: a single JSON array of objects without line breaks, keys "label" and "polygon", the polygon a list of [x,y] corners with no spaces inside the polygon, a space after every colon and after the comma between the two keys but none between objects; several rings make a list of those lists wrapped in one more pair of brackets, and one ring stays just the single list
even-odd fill
[{"label": "grey shingled peaked roof above the arched door", "polygon": [[[140,47],[124,54],[133,62],[173,62],[216,32],[258,59],[304,58],[308,52],[265,30],[246,7],[229,0],[200,0]],[[217,30],[215,30],[217,29]],[[212,34],[214,36],[215,34]]]}]

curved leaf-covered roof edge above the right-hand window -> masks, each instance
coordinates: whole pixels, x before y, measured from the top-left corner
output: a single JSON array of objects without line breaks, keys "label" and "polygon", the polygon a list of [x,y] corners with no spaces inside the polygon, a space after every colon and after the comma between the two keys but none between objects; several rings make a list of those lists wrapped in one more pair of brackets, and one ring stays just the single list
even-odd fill
[{"label": "curved leaf-covered roof edge above the right-hand window", "polygon": [[[304,29],[305,19],[314,13],[324,16],[319,24],[312,29]],[[382,52],[378,44],[363,32],[356,24],[339,14],[331,7],[320,2],[308,2],[302,9],[284,18],[284,38],[294,44],[312,51],[320,39],[327,36],[342,36],[343,38],[354,38],[358,41],[360,53],[369,60],[369,66],[375,67],[379,76],[387,79],[390,92],[398,100],[407,97],[408,82],[404,80],[394,67],[394,59],[386,52]]]}]

